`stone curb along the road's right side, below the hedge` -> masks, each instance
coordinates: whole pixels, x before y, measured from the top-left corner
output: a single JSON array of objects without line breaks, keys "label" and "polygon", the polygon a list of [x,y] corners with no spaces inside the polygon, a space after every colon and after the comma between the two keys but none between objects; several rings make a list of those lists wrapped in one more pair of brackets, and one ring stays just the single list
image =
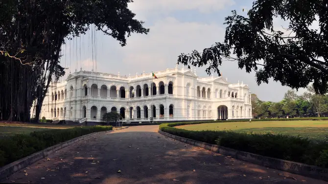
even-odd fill
[{"label": "stone curb along the road's right side, below the hedge", "polygon": [[273,168],[273,169],[278,169],[281,171],[286,171],[289,173],[293,174],[298,174],[302,176],[306,176],[309,178],[313,179],[318,179],[318,180],[324,180],[328,181],[328,169],[327,168],[322,168],[322,167],[317,167],[313,165],[307,165],[304,163],[299,163],[299,162],[294,162],[294,161],[285,161],[281,159],[275,159],[271,157],[265,157],[253,153],[248,153],[248,152],[243,152],[243,151],[238,151],[235,149],[215,145],[215,144],[209,144],[197,140],[192,140],[189,138],[182,138],[179,136],[175,136],[172,134],[168,134],[166,132],[163,132],[161,130],[158,131],[160,134],[173,138],[176,140],[179,140],[181,142],[194,145],[197,147],[204,148],[206,150],[215,152],[215,153],[220,153],[222,155],[227,155],[231,156],[235,159],[241,160],[241,161],[247,161],[250,163],[255,163],[257,165]]}]

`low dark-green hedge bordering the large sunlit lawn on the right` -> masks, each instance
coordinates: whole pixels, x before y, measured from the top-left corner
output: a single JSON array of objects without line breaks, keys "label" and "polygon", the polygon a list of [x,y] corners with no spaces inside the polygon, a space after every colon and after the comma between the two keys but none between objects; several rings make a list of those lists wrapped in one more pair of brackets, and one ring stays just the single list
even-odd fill
[{"label": "low dark-green hedge bordering the large sunlit lawn on the right", "polygon": [[189,131],[174,128],[174,126],[187,124],[197,123],[163,123],[160,125],[160,130],[240,151],[328,168],[328,143],[326,141],[287,135],[236,133],[233,131]]}]

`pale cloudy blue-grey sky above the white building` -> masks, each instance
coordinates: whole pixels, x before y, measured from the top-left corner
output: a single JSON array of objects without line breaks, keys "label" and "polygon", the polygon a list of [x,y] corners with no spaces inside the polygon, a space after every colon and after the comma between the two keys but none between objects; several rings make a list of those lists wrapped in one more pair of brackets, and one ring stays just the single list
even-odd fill
[{"label": "pale cloudy blue-grey sky above the white building", "polygon": [[[224,18],[232,15],[232,10],[246,16],[252,3],[253,0],[134,0],[129,8],[137,14],[136,19],[150,28],[147,35],[132,34],[127,38],[127,45],[122,47],[117,40],[92,29],[86,35],[67,41],[62,48],[61,65],[68,68],[67,75],[81,68],[126,76],[171,69],[181,53],[201,51],[215,42],[222,42],[226,27]],[[276,30],[283,30],[281,26],[286,23],[277,19],[274,25]],[[208,76],[205,67],[193,69],[200,77]],[[258,86],[255,73],[238,69],[234,61],[224,61],[219,69],[229,83],[248,84],[250,91],[261,100],[280,101],[290,89],[273,80]],[[300,89],[298,93],[303,92],[305,90]]]}]

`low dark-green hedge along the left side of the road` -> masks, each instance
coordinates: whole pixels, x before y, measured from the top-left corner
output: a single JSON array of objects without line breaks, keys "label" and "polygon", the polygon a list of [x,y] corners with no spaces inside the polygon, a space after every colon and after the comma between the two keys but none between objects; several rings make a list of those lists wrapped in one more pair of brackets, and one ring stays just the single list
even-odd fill
[{"label": "low dark-green hedge along the left side of the road", "polygon": [[112,126],[88,126],[70,129],[53,129],[14,135],[0,139],[0,166],[17,161],[57,143],[94,132],[113,130]]}]

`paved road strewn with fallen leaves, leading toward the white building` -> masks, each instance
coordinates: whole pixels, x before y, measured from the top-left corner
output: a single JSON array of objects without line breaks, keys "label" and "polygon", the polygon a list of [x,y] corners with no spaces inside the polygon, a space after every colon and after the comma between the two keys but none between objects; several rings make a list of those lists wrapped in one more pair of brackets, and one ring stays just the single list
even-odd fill
[{"label": "paved road strewn with fallen leaves, leading toward the white building", "polygon": [[[77,142],[15,173],[35,184],[327,184],[186,145],[136,126]],[[27,176],[24,174],[24,170]],[[118,172],[120,171],[120,172]],[[286,177],[285,177],[286,176]],[[292,179],[294,177],[296,180]]]}]

